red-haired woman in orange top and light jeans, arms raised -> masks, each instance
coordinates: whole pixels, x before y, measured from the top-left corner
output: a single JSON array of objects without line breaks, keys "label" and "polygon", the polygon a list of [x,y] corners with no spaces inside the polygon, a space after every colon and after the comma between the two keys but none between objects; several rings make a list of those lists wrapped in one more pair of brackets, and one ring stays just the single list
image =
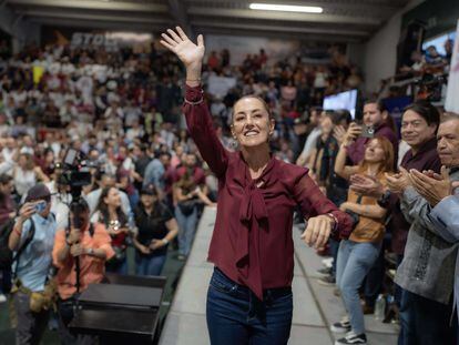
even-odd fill
[{"label": "red-haired woman in orange top and light jeans, arms raised", "polygon": [[[335,172],[349,180],[354,174],[369,175],[386,183],[385,173],[394,169],[394,148],[386,138],[377,136],[367,143],[364,160],[358,165],[345,165],[347,146],[344,142],[335,162]],[[340,210],[355,219],[355,229],[348,240],[341,241],[338,250],[336,283],[341,292],[348,316],[332,326],[334,332],[347,332],[336,344],[366,344],[364,312],[358,290],[379,256],[387,210],[377,203],[377,197],[363,196],[351,189]]]}]

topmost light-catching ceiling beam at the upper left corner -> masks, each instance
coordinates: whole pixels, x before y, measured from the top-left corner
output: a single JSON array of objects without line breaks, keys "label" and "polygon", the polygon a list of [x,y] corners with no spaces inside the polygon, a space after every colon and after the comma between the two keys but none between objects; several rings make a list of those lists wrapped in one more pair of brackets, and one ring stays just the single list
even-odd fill
[{"label": "topmost light-catching ceiling beam at the upper left corner", "polygon": [[40,7],[40,8],[61,8],[79,10],[103,10],[103,11],[124,11],[124,12],[167,12],[167,6],[161,3],[136,3],[118,1],[96,1],[96,0],[9,0],[12,7]]}]

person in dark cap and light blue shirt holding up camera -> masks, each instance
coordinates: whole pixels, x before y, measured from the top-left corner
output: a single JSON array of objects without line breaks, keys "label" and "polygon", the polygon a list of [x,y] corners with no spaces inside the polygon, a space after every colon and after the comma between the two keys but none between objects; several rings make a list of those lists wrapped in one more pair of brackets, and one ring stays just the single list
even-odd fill
[{"label": "person in dark cap and light blue shirt holding up camera", "polygon": [[10,234],[9,247],[18,256],[12,266],[17,344],[39,344],[49,319],[51,301],[43,301],[57,230],[50,212],[51,194],[43,184],[31,187]]}]

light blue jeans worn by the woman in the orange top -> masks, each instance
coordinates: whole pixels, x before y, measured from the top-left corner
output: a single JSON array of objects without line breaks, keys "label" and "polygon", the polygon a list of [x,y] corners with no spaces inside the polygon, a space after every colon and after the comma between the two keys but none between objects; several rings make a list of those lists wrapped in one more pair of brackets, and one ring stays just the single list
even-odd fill
[{"label": "light blue jeans worn by the woman in the orange top", "polygon": [[358,290],[378,258],[380,243],[358,243],[341,241],[338,250],[336,284],[341,291],[343,301],[349,314],[350,326],[356,334],[365,333],[364,312]]}]

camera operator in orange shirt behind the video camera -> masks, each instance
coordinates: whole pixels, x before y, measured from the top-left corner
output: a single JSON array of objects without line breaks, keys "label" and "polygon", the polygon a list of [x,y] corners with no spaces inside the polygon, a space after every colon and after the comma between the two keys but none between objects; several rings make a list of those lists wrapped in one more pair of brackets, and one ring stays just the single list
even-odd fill
[{"label": "camera operator in orange shirt behind the video camera", "polygon": [[62,344],[88,344],[91,343],[91,337],[74,335],[68,329],[68,324],[73,317],[74,301],[89,284],[102,281],[105,261],[110,260],[114,252],[105,226],[101,223],[90,224],[90,212],[85,201],[72,203],[70,215],[72,227],[70,231],[61,229],[55,233],[55,245],[52,251],[54,265],[59,267],[59,332]]}]

